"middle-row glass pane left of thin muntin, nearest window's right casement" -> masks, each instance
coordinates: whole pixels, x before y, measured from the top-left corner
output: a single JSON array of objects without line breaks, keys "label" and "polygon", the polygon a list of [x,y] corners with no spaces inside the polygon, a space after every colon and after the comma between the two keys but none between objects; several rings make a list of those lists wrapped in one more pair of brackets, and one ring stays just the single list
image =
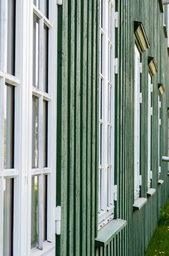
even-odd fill
[{"label": "middle-row glass pane left of thin muntin, nearest window's right casement", "polygon": [[38,167],[38,98],[32,96],[32,168]]}]

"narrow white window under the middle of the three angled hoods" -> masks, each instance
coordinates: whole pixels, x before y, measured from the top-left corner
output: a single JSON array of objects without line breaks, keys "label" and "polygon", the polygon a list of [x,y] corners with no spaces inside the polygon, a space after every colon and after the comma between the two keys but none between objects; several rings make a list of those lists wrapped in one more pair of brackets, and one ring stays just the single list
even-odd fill
[{"label": "narrow white window under the middle of the three angled hoods", "polygon": [[151,83],[151,76],[150,74],[148,75],[148,148],[147,148],[147,158],[148,158],[148,166],[147,166],[147,171],[148,171],[148,176],[147,176],[147,181],[148,181],[148,189],[150,188],[151,184],[151,116],[152,116],[152,107],[151,107],[151,93],[152,93],[152,83]]}]

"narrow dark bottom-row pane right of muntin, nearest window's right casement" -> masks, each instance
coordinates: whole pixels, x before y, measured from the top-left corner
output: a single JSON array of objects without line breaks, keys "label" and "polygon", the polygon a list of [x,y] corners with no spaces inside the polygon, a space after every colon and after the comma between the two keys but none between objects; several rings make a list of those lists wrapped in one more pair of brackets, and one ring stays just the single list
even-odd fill
[{"label": "narrow dark bottom-row pane right of muntin, nearest window's right casement", "polygon": [[47,183],[48,176],[43,176],[43,241],[47,240]]}]

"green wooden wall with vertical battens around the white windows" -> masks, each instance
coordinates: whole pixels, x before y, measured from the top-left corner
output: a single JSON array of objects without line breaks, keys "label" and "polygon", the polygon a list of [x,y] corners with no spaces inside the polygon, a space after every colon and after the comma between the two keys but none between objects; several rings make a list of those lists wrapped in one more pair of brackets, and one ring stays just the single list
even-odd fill
[{"label": "green wooden wall with vertical battens around the white windows", "polygon": [[[116,0],[115,57],[115,215],[127,226],[107,245],[94,247],[98,200],[99,0],[63,0],[58,6],[56,206],[61,205],[57,256],[143,256],[169,197],[167,163],[158,185],[158,83],[161,96],[161,156],[168,154],[169,56],[158,0]],[[150,47],[142,53],[141,196],[147,192],[148,56],[158,74],[153,82],[152,187],[155,194],[133,211],[134,178],[134,21],[143,23]]]}]

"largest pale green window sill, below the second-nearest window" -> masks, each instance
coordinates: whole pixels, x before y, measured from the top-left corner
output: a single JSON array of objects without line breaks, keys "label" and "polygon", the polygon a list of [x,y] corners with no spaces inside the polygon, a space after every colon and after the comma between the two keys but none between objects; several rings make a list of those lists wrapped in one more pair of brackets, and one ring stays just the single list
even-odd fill
[{"label": "largest pale green window sill, below the second-nearest window", "polygon": [[127,221],[119,218],[111,220],[98,231],[95,247],[105,247],[126,225]]}]

